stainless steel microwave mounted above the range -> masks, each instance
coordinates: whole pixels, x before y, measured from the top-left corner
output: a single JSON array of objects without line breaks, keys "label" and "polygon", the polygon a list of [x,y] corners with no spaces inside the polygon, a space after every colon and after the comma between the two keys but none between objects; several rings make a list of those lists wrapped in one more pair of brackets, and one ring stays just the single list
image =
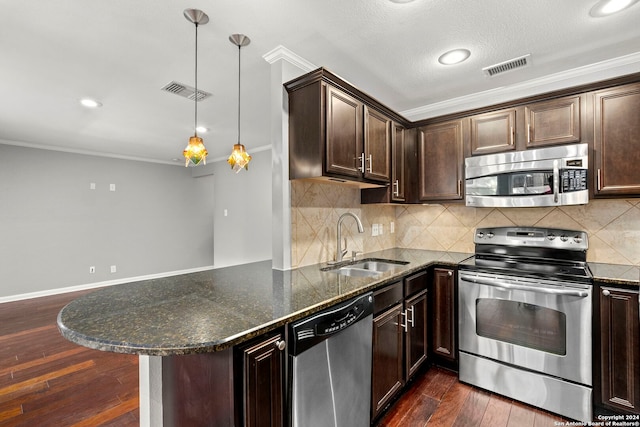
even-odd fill
[{"label": "stainless steel microwave mounted above the range", "polygon": [[465,159],[465,204],[539,207],[589,202],[587,144]]}]

